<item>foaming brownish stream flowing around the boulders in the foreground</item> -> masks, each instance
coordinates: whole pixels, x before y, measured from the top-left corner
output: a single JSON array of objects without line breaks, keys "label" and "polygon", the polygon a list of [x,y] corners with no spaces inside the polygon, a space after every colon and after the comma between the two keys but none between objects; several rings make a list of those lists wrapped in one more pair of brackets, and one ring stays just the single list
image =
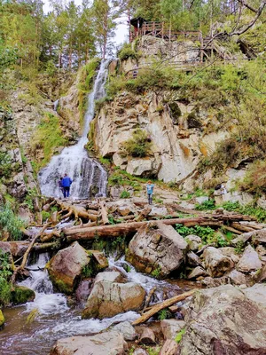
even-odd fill
[{"label": "foaming brownish stream flowing around the boulders in the foreground", "polygon": [[[44,355],[48,354],[51,346],[63,337],[72,335],[92,335],[121,321],[137,319],[137,312],[121,313],[110,319],[82,319],[84,304],[67,305],[66,296],[53,293],[48,272],[44,269],[49,261],[48,253],[38,256],[35,264],[28,265],[30,276],[20,282],[20,285],[35,290],[35,300],[24,305],[4,309],[6,319],[4,329],[0,335],[1,355]],[[182,284],[182,280],[169,282],[168,280],[156,280],[145,274],[137,272],[135,268],[124,260],[124,257],[115,261],[109,257],[109,267],[119,270],[129,281],[140,284],[148,293],[156,287],[153,302],[168,296],[174,296],[182,292],[182,288],[190,285]],[[127,268],[124,266],[127,265]],[[125,269],[129,270],[126,272]],[[31,314],[33,320],[29,319]]]}]

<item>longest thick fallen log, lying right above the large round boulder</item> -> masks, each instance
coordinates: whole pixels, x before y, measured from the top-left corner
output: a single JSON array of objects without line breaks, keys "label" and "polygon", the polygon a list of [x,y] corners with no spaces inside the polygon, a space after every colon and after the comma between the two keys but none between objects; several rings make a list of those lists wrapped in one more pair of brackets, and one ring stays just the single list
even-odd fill
[{"label": "longest thick fallen log, lying right above the large round boulder", "polygon": [[[95,237],[118,237],[121,235],[127,235],[129,233],[136,233],[137,229],[147,224],[156,224],[162,222],[165,225],[212,225],[221,226],[224,222],[228,221],[239,221],[246,216],[242,215],[215,215],[211,217],[192,217],[192,218],[173,218],[173,219],[160,219],[153,221],[143,221],[143,222],[132,222],[132,223],[121,223],[120,225],[99,225],[96,227],[88,228],[76,228],[76,229],[63,229],[66,234],[68,241],[79,241],[79,240],[90,240]],[[251,217],[247,217],[251,218]]]}]

